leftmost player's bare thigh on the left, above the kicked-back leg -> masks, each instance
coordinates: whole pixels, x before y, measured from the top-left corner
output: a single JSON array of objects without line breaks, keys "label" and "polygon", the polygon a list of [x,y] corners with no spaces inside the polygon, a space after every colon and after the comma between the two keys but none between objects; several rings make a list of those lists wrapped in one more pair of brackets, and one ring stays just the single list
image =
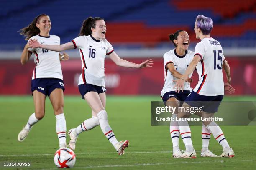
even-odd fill
[{"label": "leftmost player's bare thigh on the left, above the kicked-back leg", "polygon": [[45,99],[46,95],[38,92],[37,90],[33,91],[33,99],[35,105],[35,114],[37,119],[42,119],[45,114]]}]

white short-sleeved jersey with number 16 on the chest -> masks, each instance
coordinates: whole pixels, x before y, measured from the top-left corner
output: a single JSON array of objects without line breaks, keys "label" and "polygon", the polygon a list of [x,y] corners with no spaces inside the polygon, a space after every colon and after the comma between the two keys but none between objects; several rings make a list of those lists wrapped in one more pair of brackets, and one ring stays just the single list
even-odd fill
[{"label": "white short-sleeved jersey with number 16 on the chest", "polygon": [[114,49],[106,40],[96,40],[92,35],[80,36],[72,40],[75,49],[79,49],[82,60],[82,74],[78,85],[92,84],[105,87],[105,56]]}]

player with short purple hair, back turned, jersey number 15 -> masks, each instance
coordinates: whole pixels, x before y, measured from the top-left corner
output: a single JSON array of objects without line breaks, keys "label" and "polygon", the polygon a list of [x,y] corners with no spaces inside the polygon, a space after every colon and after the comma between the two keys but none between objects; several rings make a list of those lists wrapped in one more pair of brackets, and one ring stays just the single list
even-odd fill
[{"label": "player with short purple hair, back turned, jersey number 15", "polygon": [[[189,63],[189,67],[176,82],[175,89],[183,91],[184,82],[187,76],[191,74],[195,67],[199,75],[197,86],[186,98],[182,107],[203,107],[202,116],[212,117],[218,111],[221,100],[223,99],[224,90],[233,93],[235,89],[230,86],[230,67],[223,55],[223,49],[220,42],[210,37],[210,32],[213,28],[213,21],[211,18],[203,15],[198,15],[195,21],[196,38],[201,42],[197,43],[195,47],[195,56]],[[227,75],[228,83],[223,82],[222,68],[224,68]],[[193,102],[197,101],[197,102]],[[178,118],[189,116],[185,112],[179,112]],[[196,153],[191,141],[190,128],[187,121],[178,121],[180,133],[183,134],[182,139],[186,146],[181,158],[196,158]],[[223,153],[220,157],[234,157],[235,153],[230,148],[228,141],[225,139],[222,130],[214,121],[203,121],[203,124],[212,133],[214,138],[223,147]],[[203,150],[201,155],[203,154]]]}]

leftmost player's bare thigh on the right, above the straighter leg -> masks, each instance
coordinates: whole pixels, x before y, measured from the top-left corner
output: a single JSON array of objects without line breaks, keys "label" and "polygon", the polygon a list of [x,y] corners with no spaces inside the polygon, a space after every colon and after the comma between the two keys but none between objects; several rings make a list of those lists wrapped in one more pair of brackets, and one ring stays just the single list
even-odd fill
[{"label": "leftmost player's bare thigh on the right, above the straighter leg", "polygon": [[63,113],[63,107],[64,107],[64,94],[63,90],[60,88],[54,89],[50,96],[51,105],[54,109],[54,114],[59,115]]}]

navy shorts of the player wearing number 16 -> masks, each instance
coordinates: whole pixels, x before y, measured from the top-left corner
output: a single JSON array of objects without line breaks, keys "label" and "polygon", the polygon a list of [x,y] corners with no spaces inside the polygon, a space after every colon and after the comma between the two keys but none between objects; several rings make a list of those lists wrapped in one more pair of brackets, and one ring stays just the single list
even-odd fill
[{"label": "navy shorts of the player wearing number 16", "polygon": [[97,86],[97,85],[92,85],[92,84],[82,84],[78,85],[79,92],[82,95],[82,99],[84,99],[84,95],[87,92],[97,92],[98,94],[102,92],[106,92],[107,89],[105,87]]}]

